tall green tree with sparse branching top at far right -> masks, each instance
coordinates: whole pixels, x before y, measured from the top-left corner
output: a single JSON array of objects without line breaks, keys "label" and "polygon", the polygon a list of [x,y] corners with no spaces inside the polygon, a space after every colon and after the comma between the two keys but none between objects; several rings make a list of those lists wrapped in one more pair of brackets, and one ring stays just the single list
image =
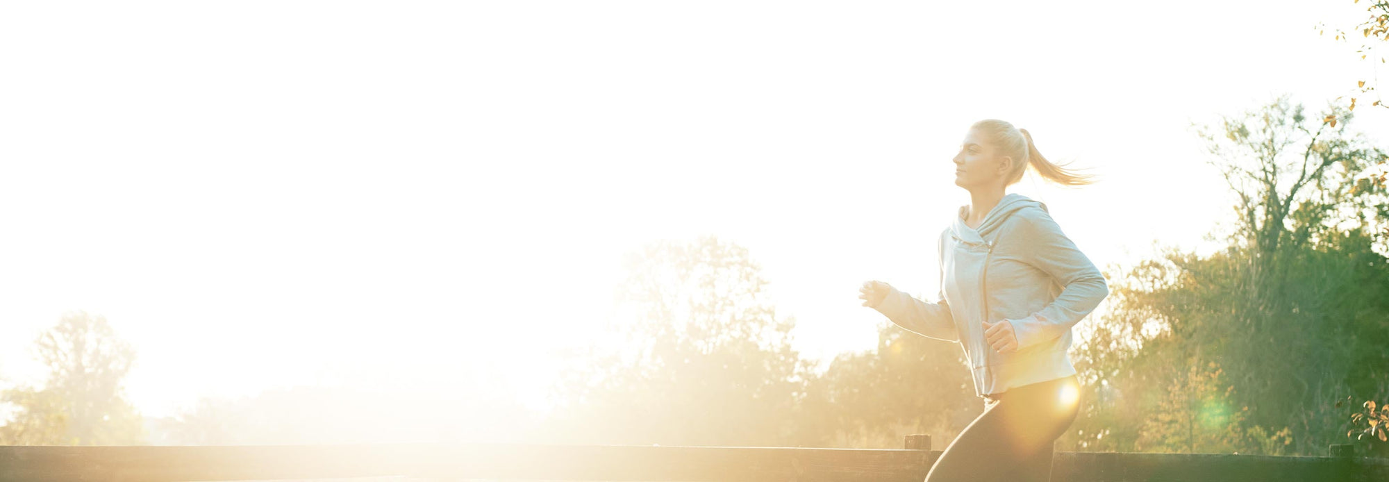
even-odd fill
[{"label": "tall green tree with sparse branching top at far right", "polygon": [[[1336,118],[1343,121],[1339,128]],[[1215,154],[1211,164],[1239,196],[1238,228],[1231,250],[1220,258],[1172,260],[1182,261],[1192,279],[1206,281],[1201,286],[1208,293],[1228,296],[1210,300],[1213,307],[1228,308],[1228,315],[1207,317],[1203,326],[1192,328],[1228,339],[1220,353],[1232,360],[1226,364],[1232,372],[1245,376],[1243,389],[1278,400],[1265,400],[1261,408],[1293,414],[1314,403],[1317,381],[1353,369],[1350,360],[1328,354],[1345,353],[1343,338],[1364,326],[1346,324],[1378,324],[1365,315],[1382,303],[1363,289],[1383,283],[1378,278],[1383,269],[1375,263],[1385,253],[1389,201],[1385,188],[1364,174],[1389,156],[1347,132],[1351,118],[1336,106],[1307,117],[1283,96],[1243,117],[1224,118],[1218,129],[1199,129]],[[1201,272],[1201,267],[1214,269]],[[1346,293],[1360,296],[1347,299]],[[1271,343],[1281,349],[1268,350]],[[1307,363],[1313,360],[1320,363]],[[1301,424],[1311,428],[1306,419]]]}]

